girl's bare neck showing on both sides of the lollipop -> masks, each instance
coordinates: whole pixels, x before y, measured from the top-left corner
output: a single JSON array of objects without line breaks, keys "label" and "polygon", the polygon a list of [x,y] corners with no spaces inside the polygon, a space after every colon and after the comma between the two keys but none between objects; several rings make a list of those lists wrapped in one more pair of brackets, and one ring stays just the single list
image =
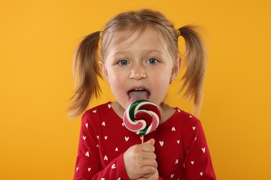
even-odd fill
[{"label": "girl's bare neck showing on both sides of the lollipop", "polygon": [[[120,118],[123,118],[123,114],[124,114],[125,109],[118,102],[112,102],[111,107],[113,108],[113,110],[115,111],[117,116],[120,116]],[[161,102],[161,105],[159,107],[161,110],[160,124],[165,123],[165,121],[167,119],[169,119],[176,111],[176,109],[170,107],[169,105],[165,104],[164,102]]]}]

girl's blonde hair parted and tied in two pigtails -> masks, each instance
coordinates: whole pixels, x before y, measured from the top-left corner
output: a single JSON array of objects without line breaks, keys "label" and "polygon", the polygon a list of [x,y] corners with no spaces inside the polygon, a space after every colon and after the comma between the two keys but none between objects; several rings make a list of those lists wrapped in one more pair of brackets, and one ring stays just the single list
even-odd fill
[{"label": "girl's blonde hair parted and tied in two pigtails", "polygon": [[[167,49],[176,58],[179,56],[179,33],[186,42],[184,59],[187,61],[186,72],[180,91],[184,97],[193,100],[195,113],[198,114],[202,105],[202,88],[206,69],[206,48],[197,26],[183,26],[176,33],[173,24],[161,12],[154,10],[129,11],[110,19],[103,31],[97,31],[86,36],[79,44],[74,57],[74,80],[76,91],[69,107],[70,117],[79,116],[88,107],[92,98],[98,98],[101,93],[98,77],[99,53],[101,60],[106,56],[106,49],[117,33],[128,30],[129,33],[141,32],[146,28],[157,30],[167,44]],[[101,39],[101,48],[99,40]],[[99,49],[101,51],[99,51]]]}]

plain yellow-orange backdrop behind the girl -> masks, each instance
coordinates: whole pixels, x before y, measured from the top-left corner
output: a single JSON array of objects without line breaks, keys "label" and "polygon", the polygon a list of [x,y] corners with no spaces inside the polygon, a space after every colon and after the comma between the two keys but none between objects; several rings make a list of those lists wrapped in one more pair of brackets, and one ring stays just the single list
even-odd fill
[{"label": "plain yellow-orange backdrop behind the girl", "polygon": [[[0,179],[72,179],[81,123],[65,112],[74,49],[110,17],[138,8],[159,10],[176,27],[206,28],[209,60],[199,118],[217,179],[271,179],[270,1],[0,4]],[[104,93],[90,107],[113,100],[103,83]],[[167,102],[191,111],[177,89],[175,80]]]}]

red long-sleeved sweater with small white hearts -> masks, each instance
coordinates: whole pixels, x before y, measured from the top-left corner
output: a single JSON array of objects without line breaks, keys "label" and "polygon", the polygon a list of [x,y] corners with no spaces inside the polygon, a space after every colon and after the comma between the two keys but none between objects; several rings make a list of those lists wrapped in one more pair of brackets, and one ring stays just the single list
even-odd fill
[{"label": "red long-sleeved sweater with small white hearts", "polygon": [[[159,179],[216,179],[200,121],[185,111],[176,112],[156,131],[154,138]],[[85,112],[82,118],[74,179],[129,179],[124,152],[140,144],[140,136],[124,127],[110,102]]]}]

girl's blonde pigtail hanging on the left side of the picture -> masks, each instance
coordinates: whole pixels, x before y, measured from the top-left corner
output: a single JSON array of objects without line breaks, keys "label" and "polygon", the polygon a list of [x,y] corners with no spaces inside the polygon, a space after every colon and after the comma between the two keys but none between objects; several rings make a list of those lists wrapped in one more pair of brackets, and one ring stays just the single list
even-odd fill
[{"label": "girl's blonde pigtail hanging on the left side of the picture", "polygon": [[68,109],[70,117],[79,116],[88,107],[90,100],[97,98],[101,92],[98,82],[98,77],[101,78],[99,35],[99,31],[88,35],[76,50],[73,66],[76,91]]}]

